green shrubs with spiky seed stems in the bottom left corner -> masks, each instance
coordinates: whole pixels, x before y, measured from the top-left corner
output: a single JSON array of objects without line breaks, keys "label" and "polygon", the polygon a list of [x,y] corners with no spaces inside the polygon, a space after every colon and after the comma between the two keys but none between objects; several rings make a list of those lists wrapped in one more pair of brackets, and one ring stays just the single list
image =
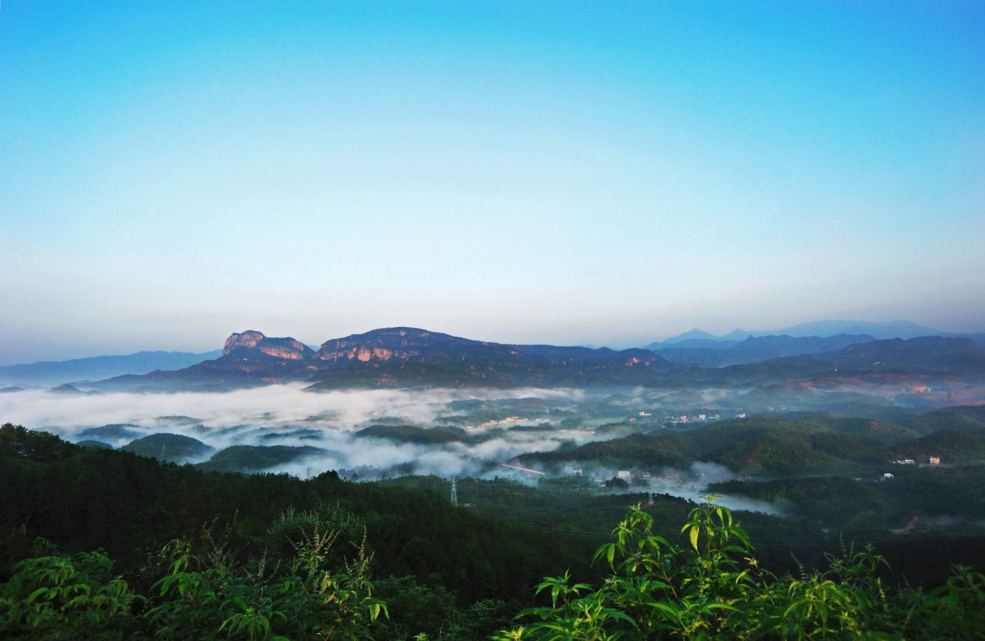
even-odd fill
[{"label": "green shrubs with spiky seed stems in the bottom left corner", "polygon": [[386,614],[373,597],[360,546],[342,568],[328,562],[336,535],[315,532],[293,560],[238,565],[211,529],[202,544],[174,541],[149,559],[135,594],[97,551],[18,564],[0,586],[0,637],[31,639],[364,639]]}]

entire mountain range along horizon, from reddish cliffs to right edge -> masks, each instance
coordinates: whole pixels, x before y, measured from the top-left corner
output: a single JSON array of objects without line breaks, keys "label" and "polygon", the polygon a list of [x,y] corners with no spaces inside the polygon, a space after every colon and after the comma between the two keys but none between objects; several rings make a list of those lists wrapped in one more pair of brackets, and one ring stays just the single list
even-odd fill
[{"label": "entire mountain range along horizon, from reddish cliffs to right edge", "polygon": [[84,387],[96,391],[223,391],[304,382],[317,391],[798,382],[818,389],[863,384],[908,389],[925,388],[930,381],[956,385],[983,375],[985,353],[964,338],[751,337],[727,350],[664,349],[655,353],[503,345],[396,327],[332,339],[318,350],[292,338],[266,337],[253,330],[235,333],[218,358],[177,370],[117,376]]}]

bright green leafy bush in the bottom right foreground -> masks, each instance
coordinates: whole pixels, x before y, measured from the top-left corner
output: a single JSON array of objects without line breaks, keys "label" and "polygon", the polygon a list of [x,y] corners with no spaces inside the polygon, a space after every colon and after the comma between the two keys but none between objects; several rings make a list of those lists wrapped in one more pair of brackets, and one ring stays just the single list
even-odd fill
[{"label": "bright green leafy bush in the bottom right foreground", "polygon": [[537,639],[972,639],[985,637],[983,575],[954,566],[930,593],[890,589],[871,547],[829,556],[826,571],[777,578],[759,567],[745,531],[714,497],[691,511],[689,545],[652,534],[653,520],[630,508],[596,561],[611,574],[593,590],[570,576],[538,593],[551,605],[526,609],[525,625],[499,641]]}]

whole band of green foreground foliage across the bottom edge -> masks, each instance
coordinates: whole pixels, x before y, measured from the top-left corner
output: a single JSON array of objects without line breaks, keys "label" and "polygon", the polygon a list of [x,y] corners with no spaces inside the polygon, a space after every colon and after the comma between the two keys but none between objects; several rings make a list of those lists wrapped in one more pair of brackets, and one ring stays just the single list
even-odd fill
[{"label": "whole band of green foreground foliage across the bottom edge", "polygon": [[[274,527],[291,519],[296,515]],[[848,549],[831,556],[823,572],[777,578],[759,567],[746,533],[713,497],[684,525],[688,545],[673,545],[652,528],[648,514],[630,508],[615,542],[595,554],[611,571],[598,589],[567,573],[546,579],[538,593],[550,605],[521,611],[530,622],[493,638],[929,640],[985,633],[983,576],[965,567],[955,566],[952,579],[929,593],[890,589],[877,576],[881,556]],[[260,557],[239,564],[213,529],[196,544],[174,541],[153,554],[137,577],[142,593],[114,576],[100,551],[69,556],[39,542],[41,555],[21,561],[0,585],[0,637],[458,641],[482,638],[504,614],[495,602],[463,613],[443,589],[408,577],[380,582],[399,612],[388,621],[369,580],[364,539],[340,566],[330,560],[337,533],[301,529],[289,563],[271,566]]]}]

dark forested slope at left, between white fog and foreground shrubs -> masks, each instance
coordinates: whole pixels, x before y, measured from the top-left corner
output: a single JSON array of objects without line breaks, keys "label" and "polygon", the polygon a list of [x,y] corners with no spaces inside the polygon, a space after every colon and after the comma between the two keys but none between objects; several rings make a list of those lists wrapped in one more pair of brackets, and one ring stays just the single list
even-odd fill
[{"label": "dark forested slope at left, between white fog and foreground shrubs", "polygon": [[333,472],[307,481],[203,472],[9,423],[0,427],[0,504],[0,576],[31,554],[36,537],[69,552],[104,549],[129,570],[149,550],[217,520],[234,523],[230,545],[241,558],[259,556],[285,510],[332,504],[372,534],[376,576],[440,585],[461,605],[500,599],[519,607],[529,586],[583,566],[596,545],[455,508],[443,492],[348,482]]}]

